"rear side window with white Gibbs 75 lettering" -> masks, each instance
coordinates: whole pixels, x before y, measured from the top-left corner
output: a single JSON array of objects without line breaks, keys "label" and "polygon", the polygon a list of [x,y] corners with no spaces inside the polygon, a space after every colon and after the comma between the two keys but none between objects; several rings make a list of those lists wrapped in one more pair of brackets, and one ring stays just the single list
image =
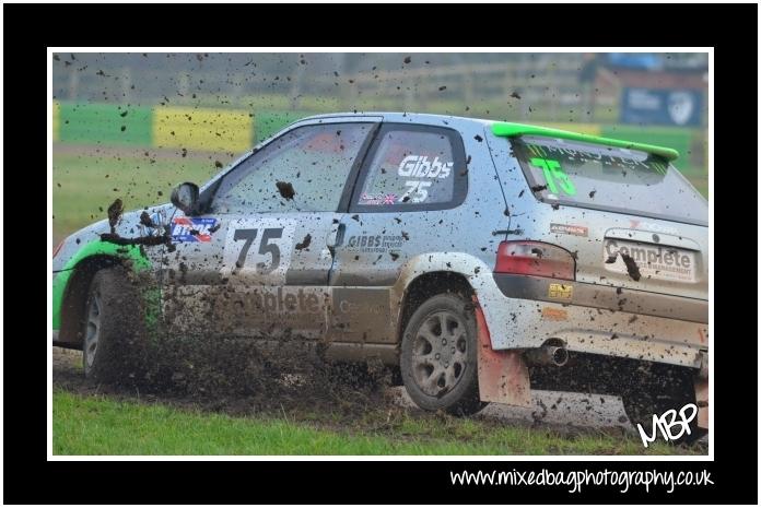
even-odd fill
[{"label": "rear side window with white Gibbs 75 lettering", "polygon": [[452,129],[385,125],[368,154],[352,210],[444,210],[463,202],[463,140]]}]

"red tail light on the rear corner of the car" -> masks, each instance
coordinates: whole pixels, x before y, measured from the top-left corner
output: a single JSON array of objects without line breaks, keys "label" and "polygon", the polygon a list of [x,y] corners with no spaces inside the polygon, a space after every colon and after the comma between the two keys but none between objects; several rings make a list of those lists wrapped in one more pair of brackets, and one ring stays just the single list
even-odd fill
[{"label": "red tail light on the rear corner of the car", "polygon": [[576,279],[576,260],[571,252],[552,244],[503,241],[496,251],[494,272],[573,281]]}]

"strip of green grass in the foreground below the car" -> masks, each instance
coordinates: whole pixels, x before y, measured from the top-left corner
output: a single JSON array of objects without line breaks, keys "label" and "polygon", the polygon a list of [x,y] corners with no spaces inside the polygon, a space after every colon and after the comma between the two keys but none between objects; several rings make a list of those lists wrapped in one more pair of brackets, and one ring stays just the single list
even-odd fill
[{"label": "strip of green grass in the foreground below the car", "polygon": [[[674,454],[700,453],[636,436],[496,425],[405,413],[390,428],[326,426],[326,416],[233,417],[104,395],[54,392],[55,454]],[[372,413],[367,417],[372,418]],[[385,417],[380,418],[385,421]]]}]

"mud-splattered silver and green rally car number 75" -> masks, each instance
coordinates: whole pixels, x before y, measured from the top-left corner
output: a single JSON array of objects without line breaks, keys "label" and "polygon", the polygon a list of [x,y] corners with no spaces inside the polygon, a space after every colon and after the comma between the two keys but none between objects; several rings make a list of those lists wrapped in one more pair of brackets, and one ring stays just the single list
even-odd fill
[{"label": "mud-splattered silver and green rally car number 75", "polygon": [[107,376],[147,316],[131,303],[147,292],[115,287],[142,273],[176,333],[376,358],[425,410],[528,405],[532,385],[607,376],[633,422],[696,403],[698,434],[707,203],[677,156],[504,121],[309,117],[171,204],[117,202],[58,246],[54,344]]}]

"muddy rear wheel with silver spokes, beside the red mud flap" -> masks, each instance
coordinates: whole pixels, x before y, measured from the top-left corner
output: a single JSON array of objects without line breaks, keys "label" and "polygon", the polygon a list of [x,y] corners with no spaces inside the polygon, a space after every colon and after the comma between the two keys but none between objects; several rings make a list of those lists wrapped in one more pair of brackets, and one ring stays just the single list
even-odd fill
[{"label": "muddy rear wheel with silver spokes, beside the red mud flap", "polygon": [[423,303],[401,339],[401,378],[412,401],[455,415],[480,411],[477,344],[470,302],[441,294]]}]

